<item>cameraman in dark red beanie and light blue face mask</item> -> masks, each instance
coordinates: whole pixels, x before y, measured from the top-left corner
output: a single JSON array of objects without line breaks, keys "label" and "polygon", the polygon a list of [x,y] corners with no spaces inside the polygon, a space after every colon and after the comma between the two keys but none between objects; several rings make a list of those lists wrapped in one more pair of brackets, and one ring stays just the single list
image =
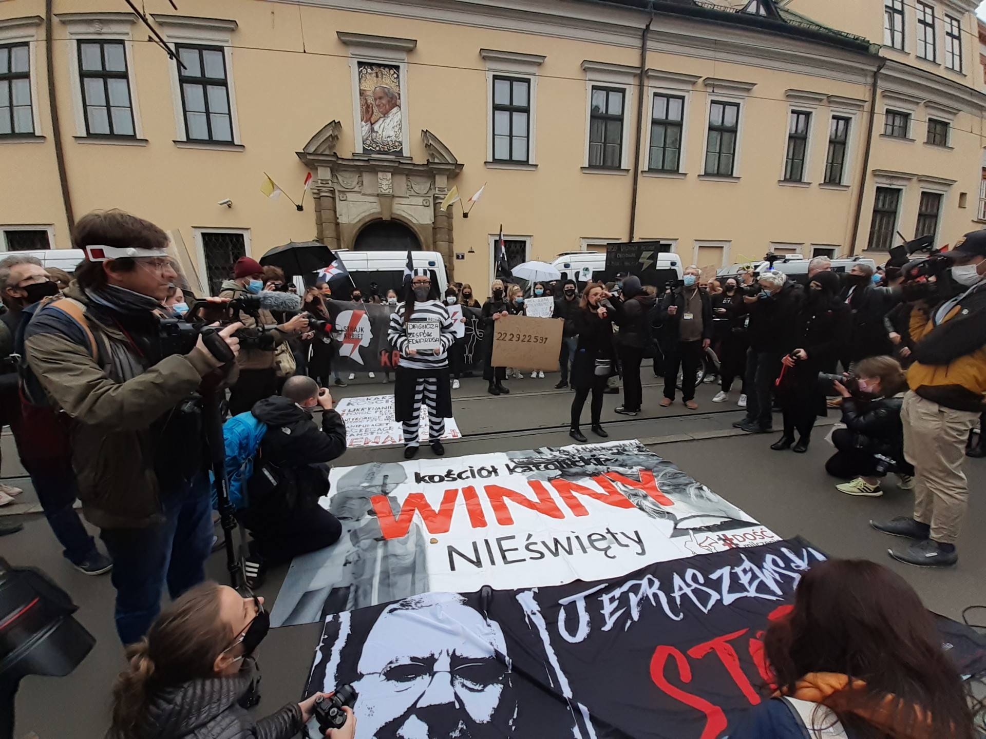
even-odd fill
[{"label": "cameraman in dark red beanie and light blue face mask", "polygon": [[[255,259],[242,256],[233,268],[233,279],[223,283],[220,298],[236,300],[249,295],[259,295],[263,290],[263,267]],[[263,398],[274,395],[281,384],[277,374],[275,348],[289,336],[308,330],[308,318],[294,315],[278,324],[266,308],[259,308],[254,315],[240,310],[237,320],[243,323],[251,339],[245,342],[237,358],[240,377],[230,390],[230,415],[244,413]]]}]

